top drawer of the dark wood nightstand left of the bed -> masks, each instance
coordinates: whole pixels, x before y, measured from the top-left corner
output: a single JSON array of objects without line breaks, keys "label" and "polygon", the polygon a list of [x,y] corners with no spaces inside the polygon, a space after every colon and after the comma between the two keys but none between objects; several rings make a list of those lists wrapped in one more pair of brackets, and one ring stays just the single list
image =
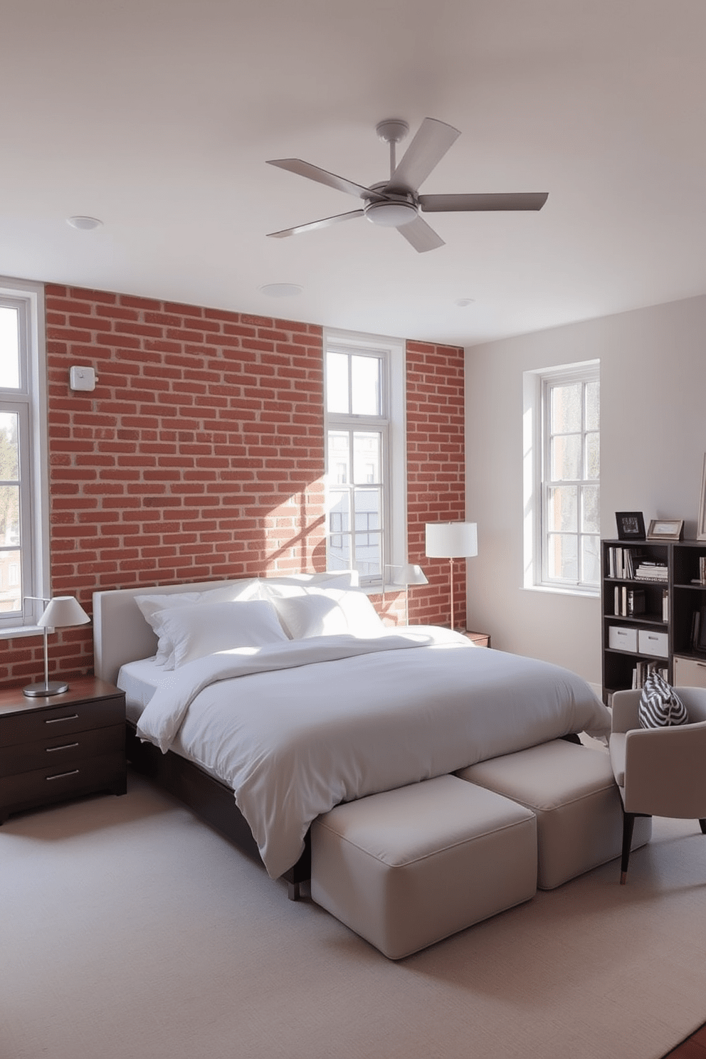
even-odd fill
[{"label": "top drawer of the dark wood nightstand left of the bed", "polygon": [[125,700],[122,695],[41,708],[37,707],[35,700],[33,705],[28,703],[26,713],[0,717],[0,747],[43,741],[72,732],[124,723]]}]

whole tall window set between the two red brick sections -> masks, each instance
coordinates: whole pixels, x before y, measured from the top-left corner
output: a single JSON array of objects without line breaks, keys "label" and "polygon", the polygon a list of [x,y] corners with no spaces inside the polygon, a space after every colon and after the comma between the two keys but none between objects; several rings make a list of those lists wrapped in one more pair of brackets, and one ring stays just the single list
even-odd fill
[{"label": "whole tall window set between the two red brick sections", "polygon": [[327,570],[380,588],[406,543],[403,346],[329,333],[324,374]]}]

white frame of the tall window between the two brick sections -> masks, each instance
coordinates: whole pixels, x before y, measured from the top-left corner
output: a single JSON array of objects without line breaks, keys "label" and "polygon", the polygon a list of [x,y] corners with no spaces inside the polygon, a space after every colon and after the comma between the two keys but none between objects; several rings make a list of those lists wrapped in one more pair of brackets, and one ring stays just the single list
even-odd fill
[{"label": "white frame of the tall window between the two brick sections", "polygon": [[[329,413],[326,406],[327,353],[359,353],[382,360],[382,415],[361,416]],[[328,432],[329,430],[382,430],[382,556],[385,578],[366,578],[368,592],[385,590],[393,567],[406,561],[406,426],[405,346],[402,339],[354,331],[324,330],[324,444],[326,448],[326,537],[328,539]]]}]

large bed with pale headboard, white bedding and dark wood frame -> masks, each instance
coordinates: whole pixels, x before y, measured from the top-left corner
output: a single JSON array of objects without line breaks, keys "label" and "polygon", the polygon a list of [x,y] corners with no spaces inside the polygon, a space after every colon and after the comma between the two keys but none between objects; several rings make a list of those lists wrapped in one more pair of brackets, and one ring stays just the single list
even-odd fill
[{"label": "large bed with pale headboard, white bedding and dark wood frame", "polygon": [[296,897],[340,802],[586,732],[610,714],[558,666],[382,625],[355,575],[94,594],[95,672],[126,694],[132,766]]}]

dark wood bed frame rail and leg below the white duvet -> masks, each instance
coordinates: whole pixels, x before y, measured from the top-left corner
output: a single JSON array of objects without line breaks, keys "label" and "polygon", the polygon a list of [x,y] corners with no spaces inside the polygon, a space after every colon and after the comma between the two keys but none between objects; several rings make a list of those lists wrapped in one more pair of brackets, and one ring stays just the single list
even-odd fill
[{"label": "dark wood bed frame rail and leg below the white duvet", "polygon": [[[204,821],[232,842],[241,852],[263,863],[257,843],[250,826],[235,804],[230,787],[209,775],[193,761],[171,751],[162,751],[149,742],[142,742],[135,726],[127,721],[126,753],[130,766],[141,775],[153,780],[162,790],[183,802],[199,820]],[[311,875],[311,852],[307,832],[302,857],[285,873],[289,898],[298,900],[301,886]]]}]

